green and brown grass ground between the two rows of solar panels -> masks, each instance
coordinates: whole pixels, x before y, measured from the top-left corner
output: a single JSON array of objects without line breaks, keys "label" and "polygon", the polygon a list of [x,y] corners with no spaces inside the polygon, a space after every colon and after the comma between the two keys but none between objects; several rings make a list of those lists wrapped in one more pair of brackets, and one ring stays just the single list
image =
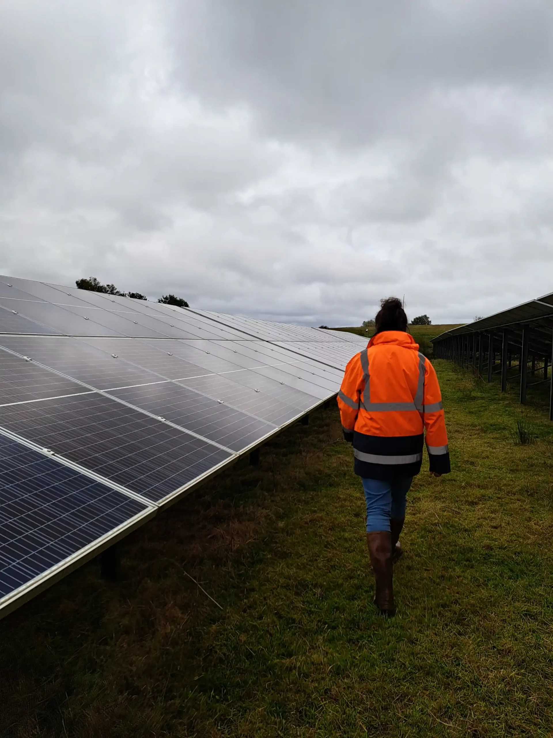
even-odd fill
[{"label": "green and brown grass ground between the two rows of solar panels", "polygon": [[553,735],[552,425],[435,365],[453,473],[408,495],[395,618],[321,410],[136,531],[119,584],[91,562],[0,622],[0,735]]}]

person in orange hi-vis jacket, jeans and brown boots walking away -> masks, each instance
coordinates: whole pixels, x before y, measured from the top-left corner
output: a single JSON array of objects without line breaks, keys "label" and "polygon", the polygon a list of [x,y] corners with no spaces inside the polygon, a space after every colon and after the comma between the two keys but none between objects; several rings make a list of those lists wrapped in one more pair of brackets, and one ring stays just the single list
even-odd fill
[{"label": "person in orange hi-vis jacket, jeans and brown boots walking away", "polygon": [[375,335],[347,364],[338,407],[363,482],[374,602],[382,615],[394,615],[393,563],[402,553],[406,495],[420,472],[422,444],[431,475],[448,474],[451,466],[434,367],[407,333],[401,300],[388,297],[380,306]]}]

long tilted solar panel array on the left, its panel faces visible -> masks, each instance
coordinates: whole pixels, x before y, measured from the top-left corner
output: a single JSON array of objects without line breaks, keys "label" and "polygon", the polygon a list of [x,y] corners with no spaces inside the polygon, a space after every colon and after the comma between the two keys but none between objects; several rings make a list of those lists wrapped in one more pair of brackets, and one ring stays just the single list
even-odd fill
[{"label": "long tilted solar panel array on the left, its panel faces visible", "polygon": [[0,277],[0,616],[333,397],[365,343]]}]

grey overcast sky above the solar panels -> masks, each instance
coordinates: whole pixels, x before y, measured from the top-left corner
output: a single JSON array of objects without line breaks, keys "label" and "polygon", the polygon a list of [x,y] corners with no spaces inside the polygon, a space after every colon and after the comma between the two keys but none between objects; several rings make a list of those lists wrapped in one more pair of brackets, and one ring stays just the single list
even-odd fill
[{"label": "grey overcast sky above the solar panels", "polygon": [[553,5],[2,0],[0,273],[358,325],[553,292]]}]

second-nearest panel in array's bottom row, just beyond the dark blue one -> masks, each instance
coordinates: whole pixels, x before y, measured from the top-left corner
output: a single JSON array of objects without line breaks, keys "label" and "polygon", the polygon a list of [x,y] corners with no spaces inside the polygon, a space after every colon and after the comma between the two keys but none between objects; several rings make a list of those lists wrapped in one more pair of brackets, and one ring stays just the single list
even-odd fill
[{"label": "second-nearest panel in array's bottom row, just beyond the dark blue one", "polygon": [[0,407],[0,426],[154,502],[232,456],[96,393]]}]

